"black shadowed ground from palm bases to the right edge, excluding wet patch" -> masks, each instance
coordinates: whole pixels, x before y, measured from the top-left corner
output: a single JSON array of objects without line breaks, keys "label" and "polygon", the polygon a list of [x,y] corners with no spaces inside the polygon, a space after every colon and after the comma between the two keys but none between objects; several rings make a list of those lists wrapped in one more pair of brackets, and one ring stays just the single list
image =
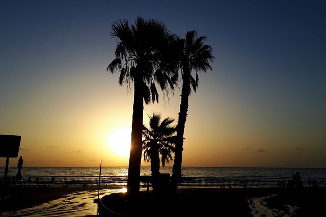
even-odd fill
[{"label": "black shadowed ground from palm bases to the right edge, excluding wet patch", "polygon": [[[123,194],[116,197],[122,200],[110,201],[113,195],[103,197],[103,204],[116,213],[126,216],[253,216],[248,198],[265,197],[269,209],[286,210],[286,205],[300,207],[287,216],[319,216],[326,205],[326,188],[287,188],[287,189],[218,189],[186,188],[179,189],[173,197],[162,196],[148,199],[141,196],[135,207],[126,208]],[[270,195],[276,195],[271,197]],[[140,207],[141,209],[138,209]],[[128,210],[130,212],[128,212]],[[137,211],[138,210],[138,211]],[[275,216],[275,215],[273,215]]]}]

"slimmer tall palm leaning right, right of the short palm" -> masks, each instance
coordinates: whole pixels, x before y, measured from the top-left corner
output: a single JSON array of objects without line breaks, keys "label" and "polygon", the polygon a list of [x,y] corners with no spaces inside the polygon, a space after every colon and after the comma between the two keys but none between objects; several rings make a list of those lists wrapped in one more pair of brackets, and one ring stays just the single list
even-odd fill
[{"label": "slimmer tall palm leaning right, right of the short palm", "polygon": [[[185,39],[177,37],[176,43],[179,50],[179,65],[181,71],[181,103],[177,124],[177,138],[175,144],[175,157],[171,176],[172,192],[176,192],[181,179],[183,135],[187,118],[189,96],[192,89],[196,92],[198,87],[198,71],[212,70],[209,65],[214,60],[212,47],[205,45],[206,36],[197,36],[196,30],[187,31]],[[196,71],[196,78],[192,71]]]}]

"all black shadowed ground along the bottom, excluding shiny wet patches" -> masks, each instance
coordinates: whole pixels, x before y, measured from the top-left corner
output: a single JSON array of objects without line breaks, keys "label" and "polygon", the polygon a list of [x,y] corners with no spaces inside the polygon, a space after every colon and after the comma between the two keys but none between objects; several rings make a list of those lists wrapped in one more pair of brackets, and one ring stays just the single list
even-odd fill
[{"label": "all black shadowed ground along the bottom, excluding shiny wet patches", "polygon": [[[55,200],[73,192],[96,191],[97,187],[12,187],[0,192],[0,216],[2,212],[32,207]],[[276,195],[275,197],[266,197]],[[270,208],[282,209],[285,204],[300,207],[292,216],[318,216],[324,213],[326,188],[303,189],[220,189],[184,188],[171,197],[149,197],[142,193],[138,201],[139,211],[127,213],[125,204],[106,203],[112,210],[128,216],[252,216],[247,198],[266,197]],[[105,200],[103,199],[105,202]]]}]

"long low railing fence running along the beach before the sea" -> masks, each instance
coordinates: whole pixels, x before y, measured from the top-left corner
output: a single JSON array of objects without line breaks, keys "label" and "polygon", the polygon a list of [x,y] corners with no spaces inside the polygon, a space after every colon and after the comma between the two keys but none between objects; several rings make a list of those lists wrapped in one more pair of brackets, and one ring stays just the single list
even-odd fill
[{"label": "long low railing fence running along the beach before the sea", "polygon": [[[319,187],[325,187],[324,179],[316,179]],[[169,183],[169,180],[167,180]],[[290,188],[292,180],[277,178],[212,178],[212,177],[182,177],[179,187],[212,187],[212,188]],[[2,185],[8,187],[95,187],[99,185],[97,176],[23,176],[20,180],[15,177],[1,179]],[[106,187],[125,187],[127,176],[101,176],[100,185]],[[141,187],[151,188],[151,176],[141,176]],[[307,181],[303,187],[310,187]]]}]

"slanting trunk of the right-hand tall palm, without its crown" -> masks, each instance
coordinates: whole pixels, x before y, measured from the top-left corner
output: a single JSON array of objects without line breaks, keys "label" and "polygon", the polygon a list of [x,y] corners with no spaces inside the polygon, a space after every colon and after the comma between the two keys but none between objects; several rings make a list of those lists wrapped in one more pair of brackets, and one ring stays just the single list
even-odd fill
[{"label": "slanting trunk of the right-hand tall palm, without its crown", "polygon": [[176,136],[176,143],[175,143],[174,164],[173,164],[172,176],[171,176],[172,193],[176,193],[178,184],[181,180],[183,135],[184,135],[185,122],[187,119],[187,111],[188,111],[188,103],[189,103],[189,95],[190,95],[190,77],[187,73],[183,73],[183,75],[184,76],[183,76],[183,83],[181,89],[180,112],[178,116],[177,136]]}]

